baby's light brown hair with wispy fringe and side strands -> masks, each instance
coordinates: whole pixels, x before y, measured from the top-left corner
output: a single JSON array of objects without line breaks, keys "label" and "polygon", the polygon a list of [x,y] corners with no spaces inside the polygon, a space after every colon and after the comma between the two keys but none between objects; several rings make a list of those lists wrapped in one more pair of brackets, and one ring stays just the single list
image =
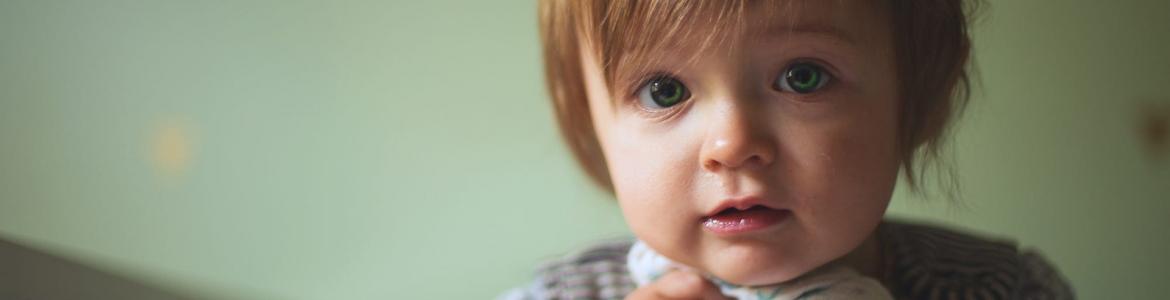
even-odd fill
[{"label": "baby's light brown hair with wispy fringe and side strands", "polygon": [[[618,68],[631,67],[646,54],[661,48],[660,41],[642,36],[682,38],[700,41],[701,47],[730,45],[739,30],[742,14],[751,0],[542,0],[541,39],[544,71],[552,96],[562,136],[585,172],[613,191],[605,156],[589,114],[581,73],[581,41],[590,41],[598,54],[603,74],[613,87]],[[921,185],[925,164],[916,157],[938,161],[947,131],[970,97],[968,62],[971,42],[968,15],[977,5],[963,0],[887,0],[892,12],[894,47],[902,100],[899,111],[897,145],[903,175],[911,190]],[[791,1],[775,1],[791,5]],[[769,9],[784,9],[766,6]],[[709,28],[696,32],[702,22]],[[729,38],[730,36],[730,38]],[[696,52],[697,53],[697,52]],[[954,177],[951,177],[954,180]],[[950,182],[954,184],[954,182]]]}]

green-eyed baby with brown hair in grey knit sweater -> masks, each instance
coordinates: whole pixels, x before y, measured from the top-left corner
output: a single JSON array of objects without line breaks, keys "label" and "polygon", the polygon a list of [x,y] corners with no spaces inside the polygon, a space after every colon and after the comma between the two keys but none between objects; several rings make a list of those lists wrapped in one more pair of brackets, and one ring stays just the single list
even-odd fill
[{"label": "green-eyed baby with brown hair in grey knit sweater", "polygon": [[573,155],[636,241],[510,298],[1071,295],[1010,243],[883,221],[966,101],[959,0],[541,2]]}]

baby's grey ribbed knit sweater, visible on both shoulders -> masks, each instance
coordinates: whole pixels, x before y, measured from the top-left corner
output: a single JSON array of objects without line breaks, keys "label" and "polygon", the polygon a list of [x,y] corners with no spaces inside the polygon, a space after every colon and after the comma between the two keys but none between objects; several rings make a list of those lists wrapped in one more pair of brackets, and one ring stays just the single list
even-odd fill
[{"label": "baby's grey ribbed knit sweater, visible on both shoulders", "polygon": [[[1073,299],[1041,255],[1010,241],[937,226],[885,221],[878,227],[886,288],[895,299]],[[633,239],[612,240],[551,261],[502,299],[621,299],[635,288],[626,270]]]}]

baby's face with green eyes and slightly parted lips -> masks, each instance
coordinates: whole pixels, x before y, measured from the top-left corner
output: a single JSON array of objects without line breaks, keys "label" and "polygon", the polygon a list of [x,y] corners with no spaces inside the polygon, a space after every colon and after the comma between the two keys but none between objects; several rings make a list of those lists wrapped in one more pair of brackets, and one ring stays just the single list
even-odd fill
[{"label": "baby's face with green eyes and slightly parted lips", "polygon": [[801,4],[772,23],[749,22],[759,35],[732,47],[690,63],[680,47],[639,82],[614,83],[633,88],[607,87],[583,54],[631,230],[735,284],[786,281],[846,255],[880,221],[897,177],[886,7]]}]

